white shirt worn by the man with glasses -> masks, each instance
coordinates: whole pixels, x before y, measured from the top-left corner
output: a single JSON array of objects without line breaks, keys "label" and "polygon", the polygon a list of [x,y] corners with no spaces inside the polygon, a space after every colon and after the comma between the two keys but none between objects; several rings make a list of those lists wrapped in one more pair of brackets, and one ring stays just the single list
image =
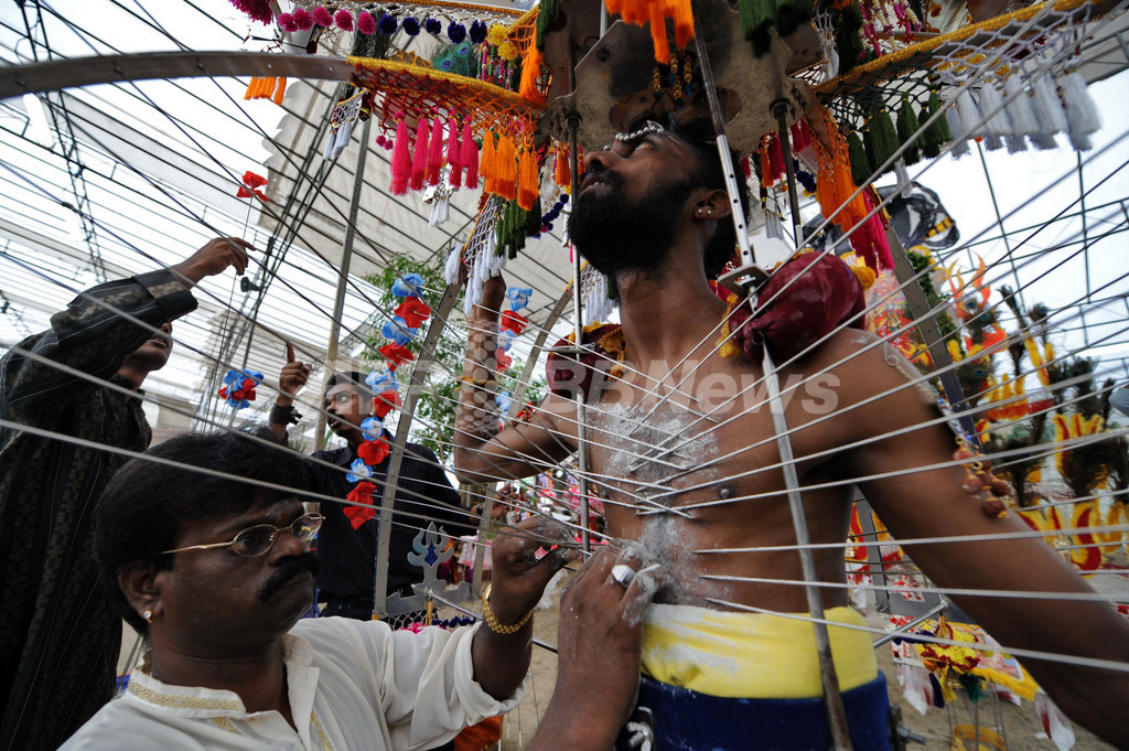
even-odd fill
[{"label": "white shirt worn by the man with glasses", "polygon": [[[473,680],[480,625],[392,631],[380,621],[305,619],[283,637],[295,732],[274,710],[247,713],[233,691],[169,685],[135,670],[125,696],[103,707],[61,751],[410,751],[517,706]],[[527,681],[528,679],[526,679]]]}]

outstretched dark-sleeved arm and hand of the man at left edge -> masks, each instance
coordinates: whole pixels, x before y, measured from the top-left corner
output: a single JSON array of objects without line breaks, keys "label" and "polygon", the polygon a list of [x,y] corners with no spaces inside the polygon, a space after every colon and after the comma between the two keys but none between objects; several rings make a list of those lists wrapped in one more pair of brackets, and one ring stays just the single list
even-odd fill
[{"label": "outstretched dark-sleeved arm and hand of the man at left edge", "polygon": [[209,241],[190,259],[167,270],[150,271],[93,287],[67,309],[51,317],[51,329],[16,344],[2,364],[6,408],[14,416],[30,416],[60,403],[89,384],[81,376],[44,359],[94,378],[114,375],[126,356],[152,337],[166,321],[195,309],[189,289],[205,276],[247,263],[244,241]]}]

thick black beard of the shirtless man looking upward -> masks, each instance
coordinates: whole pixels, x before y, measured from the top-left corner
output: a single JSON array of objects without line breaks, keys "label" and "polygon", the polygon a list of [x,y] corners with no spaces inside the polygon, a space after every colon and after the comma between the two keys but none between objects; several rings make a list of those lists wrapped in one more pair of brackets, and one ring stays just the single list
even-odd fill
[{"label": "thick black beard of the shirtless man looking upward", "polygon": [[627,273],[655,277],[682,222],[682,208],[693,191],[689,178],[647,193],[625,197],[624,180],[601,171],[610,190],[577,198],[569,238],[588,263],[613,281]]}]

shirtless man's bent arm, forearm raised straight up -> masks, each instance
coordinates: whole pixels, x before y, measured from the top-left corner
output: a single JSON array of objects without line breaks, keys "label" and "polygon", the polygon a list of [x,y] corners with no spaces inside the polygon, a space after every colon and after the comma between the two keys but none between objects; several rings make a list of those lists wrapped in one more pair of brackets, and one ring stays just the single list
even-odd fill
[{"label": "shirtless man's bent arm, forearm raised straight up", "polygon": [[571,453],[560,416],[568,403],[550,395],[533,419],[498,431],[498,317],[506,294],[500,277],[488,279],[482,303],[466,320],[466,355],[455,417],[455,473],[464,482],[528,477]]}]

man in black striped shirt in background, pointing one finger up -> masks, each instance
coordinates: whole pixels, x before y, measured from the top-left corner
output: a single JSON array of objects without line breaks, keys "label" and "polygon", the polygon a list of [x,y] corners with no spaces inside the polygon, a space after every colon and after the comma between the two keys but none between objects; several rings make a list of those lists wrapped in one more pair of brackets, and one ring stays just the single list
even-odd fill
[{"label": "man in black striped shirt in background, pointing one finger up", "polygon": [[[279,396],[271,410],[270,431],[285,439],[292,413],[292,396],[306,384],[309,366],[296,361],[288,349],[289,363],[279,374]],[[361,421],[373,412],[373,393],[365,385],[365,376],[357,372],[338,373],[327,384],[324,398],[330,430],[348,442],[348,446],[314,452],[320,460],[312,463],[314,490],[325,496],[344,499],[355,488],[345,473],[357,460],[357,449],[365,443]],[[384,433],[392,443],[392,435]],[[379,508],[390,459],[371,466],[375,486],[373,505]],[[332,465],[332,466],[329,466]],[[322,615],[343,615],[368,620],[373,617],[376,579],[376,545],[379,536],[379,516],[360,522],[350,518],[347,510],[355,507],[323,503],[325,516],[317,535],[317,587],[326,606]],[[408,562],[412,541],[428,521],[435,519],[450,536],[473,534],[475,525],[467,512],[460,508],[458,492],[450,486],[435,453],[427,446],[408,443],[400,466],[396,501],[388,550],[387,594],[410,596],[412,584],[423,580],[422,569]],[[360,522],[355,527],[355,523]]]}]

